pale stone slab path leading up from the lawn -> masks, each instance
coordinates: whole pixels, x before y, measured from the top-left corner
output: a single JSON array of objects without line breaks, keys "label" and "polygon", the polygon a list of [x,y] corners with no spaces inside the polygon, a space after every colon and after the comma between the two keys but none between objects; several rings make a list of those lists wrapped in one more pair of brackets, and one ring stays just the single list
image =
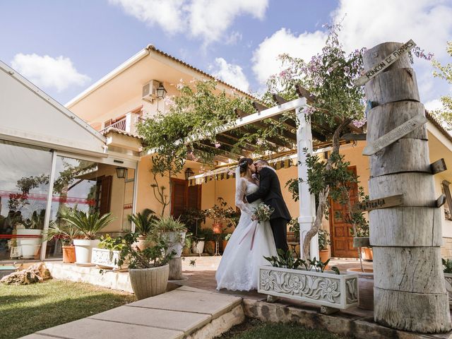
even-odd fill
[{"label": "pale stone slab path leading up from the lawn", "polygon": [[242,321],[242,298],[183,286],[23,338],[201,339],[220,335]]}]

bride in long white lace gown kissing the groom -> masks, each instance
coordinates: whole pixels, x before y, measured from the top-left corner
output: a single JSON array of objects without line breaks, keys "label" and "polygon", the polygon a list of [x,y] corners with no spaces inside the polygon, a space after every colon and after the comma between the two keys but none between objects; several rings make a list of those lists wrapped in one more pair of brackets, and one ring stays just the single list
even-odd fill
[{"label": "bride in long white lace gown kissing the groom", "polygon": [[270,222],[251,220],[254,208],[261,203],[244,203],[244,196],[254,193],[259,188],[258,182],[251,177],[256,173],[253,160],[245,157],[239,161],[235,171],[235,204],[242,215],[232,233],[231,239],[222,255],[215,278],[217,290],[249,291],[257,288],[258,266],[268,261],[263,256],[277,256],[275,240]]}]

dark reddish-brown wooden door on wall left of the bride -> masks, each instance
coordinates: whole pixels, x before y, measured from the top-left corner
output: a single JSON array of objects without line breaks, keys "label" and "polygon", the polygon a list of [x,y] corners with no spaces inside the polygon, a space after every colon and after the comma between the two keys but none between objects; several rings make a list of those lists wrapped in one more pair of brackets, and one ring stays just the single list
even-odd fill
[{"label": "dark reddish-brown wooden door on wall left of the bride", "polygon": [[171,179],[171,215],[179,218],[185,208],[201,210],[201,185],[189,186],[188,180]]}]

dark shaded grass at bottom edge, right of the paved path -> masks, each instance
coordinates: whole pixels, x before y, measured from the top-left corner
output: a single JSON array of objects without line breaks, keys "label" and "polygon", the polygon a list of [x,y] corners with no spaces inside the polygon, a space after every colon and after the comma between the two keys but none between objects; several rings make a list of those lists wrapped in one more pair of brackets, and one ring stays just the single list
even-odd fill
[{"label": "dark shaded grass at bottom edge, right of the paved path", "polygon": [[338,339],[348,338],[326,331],[309,330],[297,323],[264,323],[246,319],[216,339]]}]

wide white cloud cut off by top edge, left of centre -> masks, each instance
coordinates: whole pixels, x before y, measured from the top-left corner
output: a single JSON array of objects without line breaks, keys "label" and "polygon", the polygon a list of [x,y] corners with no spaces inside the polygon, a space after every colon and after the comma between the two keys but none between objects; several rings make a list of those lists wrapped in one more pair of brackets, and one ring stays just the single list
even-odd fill
[{"label": "wide white cloud cut off by top edge, left of centre", "polygon": [[[225,37],[237,16],[249,15],[262,20],[268,0],[109,0],[126,13],[148,25],[159,25],[169,33],[188,32],[204,44]],[[237,36],[234,37],[237,40]]]}]

